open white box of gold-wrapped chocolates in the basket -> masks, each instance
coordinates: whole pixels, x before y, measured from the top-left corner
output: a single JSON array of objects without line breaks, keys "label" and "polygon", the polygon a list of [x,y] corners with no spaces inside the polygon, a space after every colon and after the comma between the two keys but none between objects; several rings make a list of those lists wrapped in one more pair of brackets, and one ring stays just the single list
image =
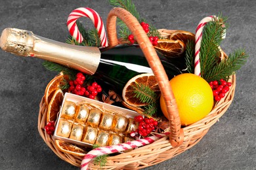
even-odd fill
[{"label": "open white box of gold-wrapped chocolates in the basket", "polygon": [[139,113],[72,93],[65,93],[56,122],[54,139],[92,147],[110,146],[133,140]]}]

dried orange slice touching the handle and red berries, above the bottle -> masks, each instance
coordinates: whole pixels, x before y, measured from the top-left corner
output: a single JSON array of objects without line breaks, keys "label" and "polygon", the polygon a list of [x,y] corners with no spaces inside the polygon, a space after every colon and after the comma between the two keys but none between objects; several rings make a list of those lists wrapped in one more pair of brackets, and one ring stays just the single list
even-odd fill
[{"label": "dried orange slice touching the handle and red berries, above the bottle", "polygon": [[159,39],[154,48],[167,58],[180,56],[184,52],[184,43],[179,40]]}]

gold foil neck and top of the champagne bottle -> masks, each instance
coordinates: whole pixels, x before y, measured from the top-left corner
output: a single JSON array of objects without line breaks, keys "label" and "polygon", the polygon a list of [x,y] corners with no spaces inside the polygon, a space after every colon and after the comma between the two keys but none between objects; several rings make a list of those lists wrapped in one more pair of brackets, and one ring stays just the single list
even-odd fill
[{"label": "gold foil neck and top of the champagne bottle", "polygon": [[6,28],[0,41],[1,48],[6,52],[53,61],[88,75],[93,75],[100,63],[100,50],[95,46],[58,42],[34,35],[32,31]]}]

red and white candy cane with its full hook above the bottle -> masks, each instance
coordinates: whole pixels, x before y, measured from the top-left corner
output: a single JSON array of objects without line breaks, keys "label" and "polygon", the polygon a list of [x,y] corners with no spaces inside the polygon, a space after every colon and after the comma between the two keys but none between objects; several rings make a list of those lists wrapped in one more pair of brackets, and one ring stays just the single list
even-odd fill
[{"label": "red and white candy cane with its full hook above the bottle", "polygon": [[98,15],[98,13],[90,8],[81,7],[78,9],[73,10],[70,15],[68,16],[68,31],[70,31],[70,35],[74,37],[74,39],[81,43],[83,41],[83,37],[81,33],[78,30],[76,21],[80,17],[87,17],[90,18],[93,21],[93,24],[95,25],[95,28],[98,31],[98,37],[100,37],[100,45],[101,46],[108,46],[108,40],[106,37],[106,31],[104,28],[104,24],[102,22],[102,19]]}]

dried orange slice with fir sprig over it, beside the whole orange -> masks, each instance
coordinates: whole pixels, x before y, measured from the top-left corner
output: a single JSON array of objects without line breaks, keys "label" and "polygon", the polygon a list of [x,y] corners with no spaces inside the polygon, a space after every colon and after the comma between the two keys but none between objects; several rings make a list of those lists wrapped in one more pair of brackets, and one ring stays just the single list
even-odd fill
[{"label": "dried orange slice with fir sprig over it, beside the whole orange", "polygon": [[137,85],[144,84],[144,86],[148,86],[156,93],[160,93],[160,89],[158,87],[158,82],[153,73],[144,73],[141,75],[134,76],[125,84],[123,88],[123,101],[128,105],[135,107],[142,107],[148,105],[148,103],[142,103],[139,98],[135,97],[135,90],[137,90]]}]

